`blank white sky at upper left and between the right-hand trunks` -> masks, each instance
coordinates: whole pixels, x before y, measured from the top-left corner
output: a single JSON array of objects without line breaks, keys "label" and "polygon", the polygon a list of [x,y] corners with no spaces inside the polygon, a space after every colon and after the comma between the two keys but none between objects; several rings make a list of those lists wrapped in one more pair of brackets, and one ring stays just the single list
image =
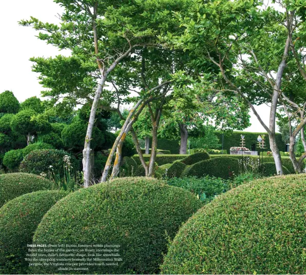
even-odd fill
[{"label": "blank white sky at upper left and between the right-hand trunks", "polygon": [[[1,4],[3,12],[0,16],[1,34],[3,37],[0,44],[0,93],[10,90],[17,97],[18,101],[23,102],[31,96],[40,96],[44,88],[39,84],[37,76],[32,72],[32,62],[30,57],[55,57],[62,54],[69,55],[69,51],[59,51],[44,41],[39,40],[35,35],[38,32],[31,27],[18,25],[21,19],[30,19],[30,16],[40,19],[42,22],[59,23],[56,17],[62,13],[63,9],[52,0],[15,0],[3,1]],[[12,10],[13,12],[8,12]],[[261,115],[264,123],[269,123],[270,108],[266,105],[255,106]],[[251,127],[245,129],[250,132],[265,132],[257,118],[250,111]]]}]

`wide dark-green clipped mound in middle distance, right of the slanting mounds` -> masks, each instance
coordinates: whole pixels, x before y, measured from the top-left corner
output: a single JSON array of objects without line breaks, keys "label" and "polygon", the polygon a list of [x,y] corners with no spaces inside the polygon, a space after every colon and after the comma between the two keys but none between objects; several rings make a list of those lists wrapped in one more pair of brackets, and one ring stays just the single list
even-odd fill
[{"label": "wide dark-green clipped mound in middle distance, right of the slanting mounds", "polygon": [[234,174],[239,174],[240,166],[238,160],[222,156],[211,160],[201,161],[190,166],[187,176],[202,176],[209,175],[216,178],[229,179]]}]

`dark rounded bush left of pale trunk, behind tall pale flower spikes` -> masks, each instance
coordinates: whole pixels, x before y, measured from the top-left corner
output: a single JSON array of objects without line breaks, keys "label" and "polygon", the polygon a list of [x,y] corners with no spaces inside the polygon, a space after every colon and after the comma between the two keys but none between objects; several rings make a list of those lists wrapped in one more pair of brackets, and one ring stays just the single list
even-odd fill
[{"label": "dark rounded bush left of pale trunk, behind tall pale flower spikes", "polygon": [[20,171],[40,175],[41,173],[48,174],[52,171],[54,173],[63,174],[64,166],[67,164],[64,161],[64,156],[70,158],[71,169],[78,170],[79,163],[74,156],[70,155],[64,150],[56,149],[42,149],[34,150],[27,154],[20,164]]}]

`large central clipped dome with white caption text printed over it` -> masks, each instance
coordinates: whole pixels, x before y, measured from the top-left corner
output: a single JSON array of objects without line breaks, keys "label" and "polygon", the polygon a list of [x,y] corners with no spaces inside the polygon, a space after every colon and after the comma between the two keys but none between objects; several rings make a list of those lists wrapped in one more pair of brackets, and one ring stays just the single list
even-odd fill
[{"label": "large central clipped dome with white caption text printed over it", "polygon": [[[37,227],[33,243],[119,244],[119,266],[88,266],[84,272],[154,274],[167,238],[174,238],[200,206],[194,194],[156,179],[119,178],[75,191],[55,204]],[[61,272],[55,268],[37,266],[33,271]]]}]

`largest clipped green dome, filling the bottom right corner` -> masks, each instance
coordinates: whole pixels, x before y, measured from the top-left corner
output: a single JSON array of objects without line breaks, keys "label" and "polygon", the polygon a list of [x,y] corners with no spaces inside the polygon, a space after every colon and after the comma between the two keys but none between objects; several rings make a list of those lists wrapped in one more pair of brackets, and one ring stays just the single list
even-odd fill
[{"label": "largest clipped green dome, filling the bottom right corner", "polygon": [[183,225],[164,274],[304,274],[305,175],[277,176],[220,195]]}]

